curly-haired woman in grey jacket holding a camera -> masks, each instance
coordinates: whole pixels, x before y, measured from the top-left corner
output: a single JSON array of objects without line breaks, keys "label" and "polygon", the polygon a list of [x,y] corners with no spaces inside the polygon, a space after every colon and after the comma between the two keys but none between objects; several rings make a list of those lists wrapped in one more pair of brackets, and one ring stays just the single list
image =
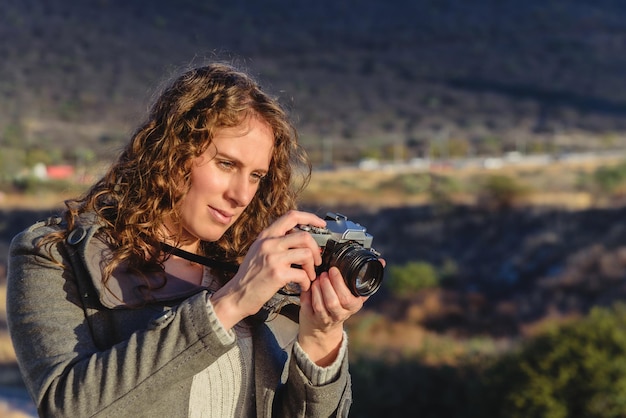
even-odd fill
[{"label": "curly-haired woman in grey jacket holding a camera", "polygon": [[294,232],[325,225],[295,210],[305,161],[247,75],[176,79],[104,177],[11,244],[9,329],[39,413],[346,416],[343,323],[365,298],[335,267],[316,277],[319,247]]}]

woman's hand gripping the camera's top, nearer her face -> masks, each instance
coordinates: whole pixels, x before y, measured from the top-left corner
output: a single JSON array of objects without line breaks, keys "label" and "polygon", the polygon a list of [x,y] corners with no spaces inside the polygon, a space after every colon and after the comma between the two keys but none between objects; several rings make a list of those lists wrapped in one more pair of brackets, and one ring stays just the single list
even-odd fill
[{"label": "woman's hand gripping the camera's top, nearer her face", "polygon": [[[261,309],[279,289],[295,283],[307,291],[315,280],[315,266],[322,262],[320,247],[298,225],[326,226],[318,216],[289,211],[263,230],[250,246],[235,276],[211,297],[226,329]],[[300,268],[294,267],[294,265]]]}]

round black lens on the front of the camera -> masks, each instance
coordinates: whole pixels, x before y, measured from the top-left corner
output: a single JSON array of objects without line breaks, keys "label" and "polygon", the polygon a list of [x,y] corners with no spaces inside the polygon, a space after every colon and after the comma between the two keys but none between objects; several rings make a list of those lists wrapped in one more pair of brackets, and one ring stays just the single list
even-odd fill
[{"label": "round black lens on the front of the camera", "polygon": [[356,243],[345,243],[331,254],[330,265],[336,266],[355,296],[375,293],[383,280],[384,268],[378,257]]}]

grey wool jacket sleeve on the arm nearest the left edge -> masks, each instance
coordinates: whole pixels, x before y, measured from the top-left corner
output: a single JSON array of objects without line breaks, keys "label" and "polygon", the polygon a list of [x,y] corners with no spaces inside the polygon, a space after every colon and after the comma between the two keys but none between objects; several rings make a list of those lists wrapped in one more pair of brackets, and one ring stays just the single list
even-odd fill
[{"label": "grey wool jacket sleeve on the arm nearest the left edge", "polygon": [[219,324],[202,292],[99,350],[64,246],[49,256],[35,245],[45,230],[13,239],[7,292],[11,338],[41,416],[143,416],[138,408],[158,404],[164,387],[191,379],[231,348],[215,334]]}]

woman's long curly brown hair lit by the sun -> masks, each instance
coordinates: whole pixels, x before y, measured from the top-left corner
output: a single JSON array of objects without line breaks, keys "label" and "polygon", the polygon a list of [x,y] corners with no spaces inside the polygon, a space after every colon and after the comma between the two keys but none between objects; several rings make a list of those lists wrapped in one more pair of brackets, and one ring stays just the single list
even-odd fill
[{"label": "woman's long curly brown hair lit by the sun", "polygon": [[[201,155],[221,128],[254,116],[274,134],[269,172],[252,202],[217,242],[202,242],[205,255],[239,262],[259,232],[296,207],[311,165],[297,132],[276,98],[264,93],[249,75],[216,63],[175,79],[158,97],[147,120],[133,134],[118,160],[80,198],[65,202],[67,229],[47,241],[60,241],[77,216],[94,212],[114,248],[105,280],[121,263],[135,271],[160,266],[165,219],[179,221],[179,207],[190,186],[192,159]],[[299,170],[297,168],[304,168]],[[296,182],[295,174],[301,174]]]}]

